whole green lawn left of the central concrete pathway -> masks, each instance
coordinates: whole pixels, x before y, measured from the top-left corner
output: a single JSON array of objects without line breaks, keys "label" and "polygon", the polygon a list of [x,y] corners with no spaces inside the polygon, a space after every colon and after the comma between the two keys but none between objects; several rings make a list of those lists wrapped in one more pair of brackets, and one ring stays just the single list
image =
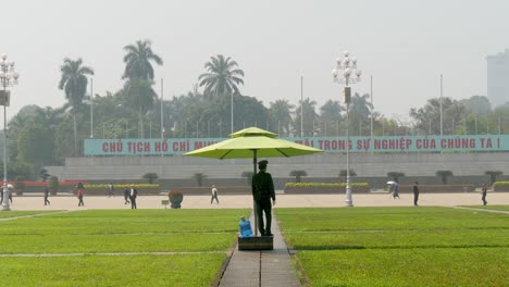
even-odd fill
[{"label": "whole green lawn left of the central concrete pathway", "polygon": [[3,221],[1,284],[209,286],[249,212],[88,210]]}]

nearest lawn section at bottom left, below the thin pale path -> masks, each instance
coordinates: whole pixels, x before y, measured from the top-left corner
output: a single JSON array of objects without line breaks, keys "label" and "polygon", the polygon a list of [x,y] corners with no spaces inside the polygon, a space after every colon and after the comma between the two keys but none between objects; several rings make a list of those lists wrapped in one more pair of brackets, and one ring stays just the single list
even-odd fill
[{"label": "nearest lawn section at bottom left, below the thin pale path", "polygon": [[209,286],[225,253],[2,258],[2,286]]}]

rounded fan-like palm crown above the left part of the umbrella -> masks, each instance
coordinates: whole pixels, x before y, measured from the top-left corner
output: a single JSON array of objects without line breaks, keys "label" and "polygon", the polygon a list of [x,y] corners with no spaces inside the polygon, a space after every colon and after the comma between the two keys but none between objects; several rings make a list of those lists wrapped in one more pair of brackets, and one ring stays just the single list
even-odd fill
[{"label": "rounded fan-like palm crown above the left part of the umbrella", "polygon": [[203,93],[207,96],[240,95],[238,85],[244,85],[244,71],[236,68],[237,62],[222,54],[211,57],[210,62],[204,64],[208,73],[199,76],[200,87],[204,86]]}]

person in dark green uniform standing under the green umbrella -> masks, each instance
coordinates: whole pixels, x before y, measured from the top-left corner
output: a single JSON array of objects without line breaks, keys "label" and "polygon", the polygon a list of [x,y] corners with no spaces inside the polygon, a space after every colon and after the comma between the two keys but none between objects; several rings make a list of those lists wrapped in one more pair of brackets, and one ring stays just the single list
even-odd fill
[{"label": "person in dark green uniform standing under the green umbrella", "polygon": [[[271,224],[272,224],[272,204],[275,205],[275,191],[274,182],[272,175],[266,172],[266,164],[269,162],[263,160],[258,163],[260,170],[252,177],[251,190],[252,197],[256,203],[256,212],[258,219],[258,230],[261,236],[272,236]],[[263,213],[265,213],[265,224],[263,224]]]}]

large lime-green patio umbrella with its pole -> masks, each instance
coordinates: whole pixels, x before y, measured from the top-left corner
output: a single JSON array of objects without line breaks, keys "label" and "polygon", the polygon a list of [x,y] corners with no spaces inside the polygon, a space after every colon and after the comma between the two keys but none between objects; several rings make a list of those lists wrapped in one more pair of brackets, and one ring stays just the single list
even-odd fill
[{"label": "large lime-green patio umbrella with its pole", "polygon": [[[194,150],[184,155],[211,159],[251,159],[257,174],[258,158],[289,158],[322,152],[321,149],[276,138],[277,135],[258,127],[248,127],[229,135],[231,139]],[[256,210],[256,209],[254,209]],[[254,234],[257,222],[254,216]]]}]

